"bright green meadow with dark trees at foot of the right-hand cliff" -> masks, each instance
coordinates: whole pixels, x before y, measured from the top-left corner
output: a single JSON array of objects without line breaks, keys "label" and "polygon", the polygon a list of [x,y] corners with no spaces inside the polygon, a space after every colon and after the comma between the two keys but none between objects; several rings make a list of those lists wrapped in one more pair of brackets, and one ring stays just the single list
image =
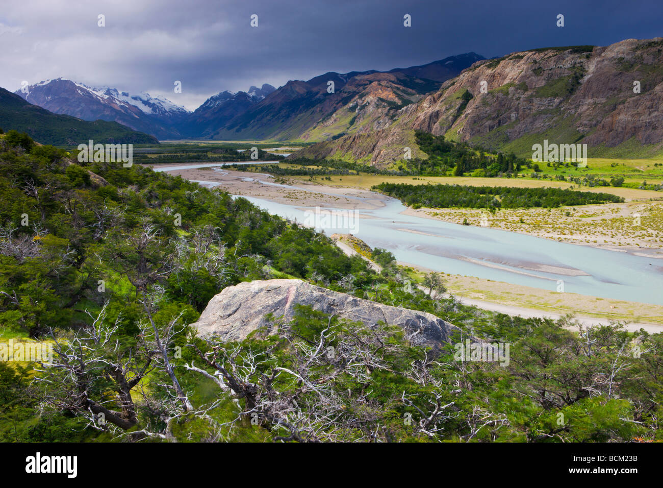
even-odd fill
[{"label": "bright green meadow with dark trees at foot of the right-hand cliff", "polygon": [[[333,144],[333,141],[330,144]],[[317,151],[323,147],[321,144],[316,144],[290,154],[286,158],[287,162],[292,163],[290,169],[281,165],[279,169],[269,169],[269,171],[274,174],[311,177],[369,173],[389,177],[424,177],[426,181],[430,177],[469,176],[477,179],[497,177],[500,181],[504,181],[506,186],[522,185],[515,180],[524,178],[551,181],[554,184],[559,183],[562,187],[573,185],[654,191],[663,189],[663,159],[587,158],[587,165],[584,167],[581,165],[579,167],[574,161],[534,162],[531,155],[530,158],[524,158],[517,157],[514,153],[487,151],[481,146],[468,145],[450,140],[444,135],[436,136],[424,131],[414,131],[414,141],[411,144],[410,159],[403,154],[391,163],[385,162],[381,165],[354,162],[351,157],[347,157],[347,154],[340,153],[336,155],[337,157],[331,155],[328,158],[316,159],[316,154],[322,157],[322,154],[316,153],[316,147]]]}]

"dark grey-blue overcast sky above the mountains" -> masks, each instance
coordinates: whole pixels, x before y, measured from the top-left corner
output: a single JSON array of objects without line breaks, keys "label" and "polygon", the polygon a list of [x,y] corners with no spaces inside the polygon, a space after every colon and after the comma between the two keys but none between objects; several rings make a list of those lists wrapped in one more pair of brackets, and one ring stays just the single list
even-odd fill
[{"label": "dark grey-blue overcast sky above the mountains", "polygon": [[[1,2],[3,88],[62,76],[163,95],[190,110],[223,90],[281,86],[328,71],[663,35],[663,0]],[[97,26],[100,14],[105,27]],[[250,25],[253,14],[258,27]],[[403,26],[405,14],[412,27]]]}]

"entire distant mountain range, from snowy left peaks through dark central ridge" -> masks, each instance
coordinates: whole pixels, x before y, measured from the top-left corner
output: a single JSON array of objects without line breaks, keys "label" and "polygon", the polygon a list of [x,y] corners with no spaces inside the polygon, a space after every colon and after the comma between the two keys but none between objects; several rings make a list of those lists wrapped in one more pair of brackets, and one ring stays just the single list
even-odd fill
[{"label": "entire distant mountain range, from snowy left peaks through dark central ridge", "polygon": [[483,58],[471,52],[389,72],[328,72],[280,88],[263,84],[247,92],[223,91],[194,112],[166,98],[91,88],[66,78],[16,94],[56,114],[119,122],[159,139],[322,141],[389,125],[400,108],[434,92],[477,59]]}]

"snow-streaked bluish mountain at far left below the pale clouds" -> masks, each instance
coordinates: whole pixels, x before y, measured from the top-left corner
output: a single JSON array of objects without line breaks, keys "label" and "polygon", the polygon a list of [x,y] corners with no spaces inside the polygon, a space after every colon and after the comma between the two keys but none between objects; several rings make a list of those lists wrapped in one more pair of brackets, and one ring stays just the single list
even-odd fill
[{"label": "snow-streaked bluish mountain at far left below the pale clouds", "polygon": [[17,90],[15,94],[56,114],[119,122],[159,139],[180,137],[176,125],[190,114],[186,108],[161,96],[92,88],[66,78],[45,80],[30,85],[27,93]]}]

